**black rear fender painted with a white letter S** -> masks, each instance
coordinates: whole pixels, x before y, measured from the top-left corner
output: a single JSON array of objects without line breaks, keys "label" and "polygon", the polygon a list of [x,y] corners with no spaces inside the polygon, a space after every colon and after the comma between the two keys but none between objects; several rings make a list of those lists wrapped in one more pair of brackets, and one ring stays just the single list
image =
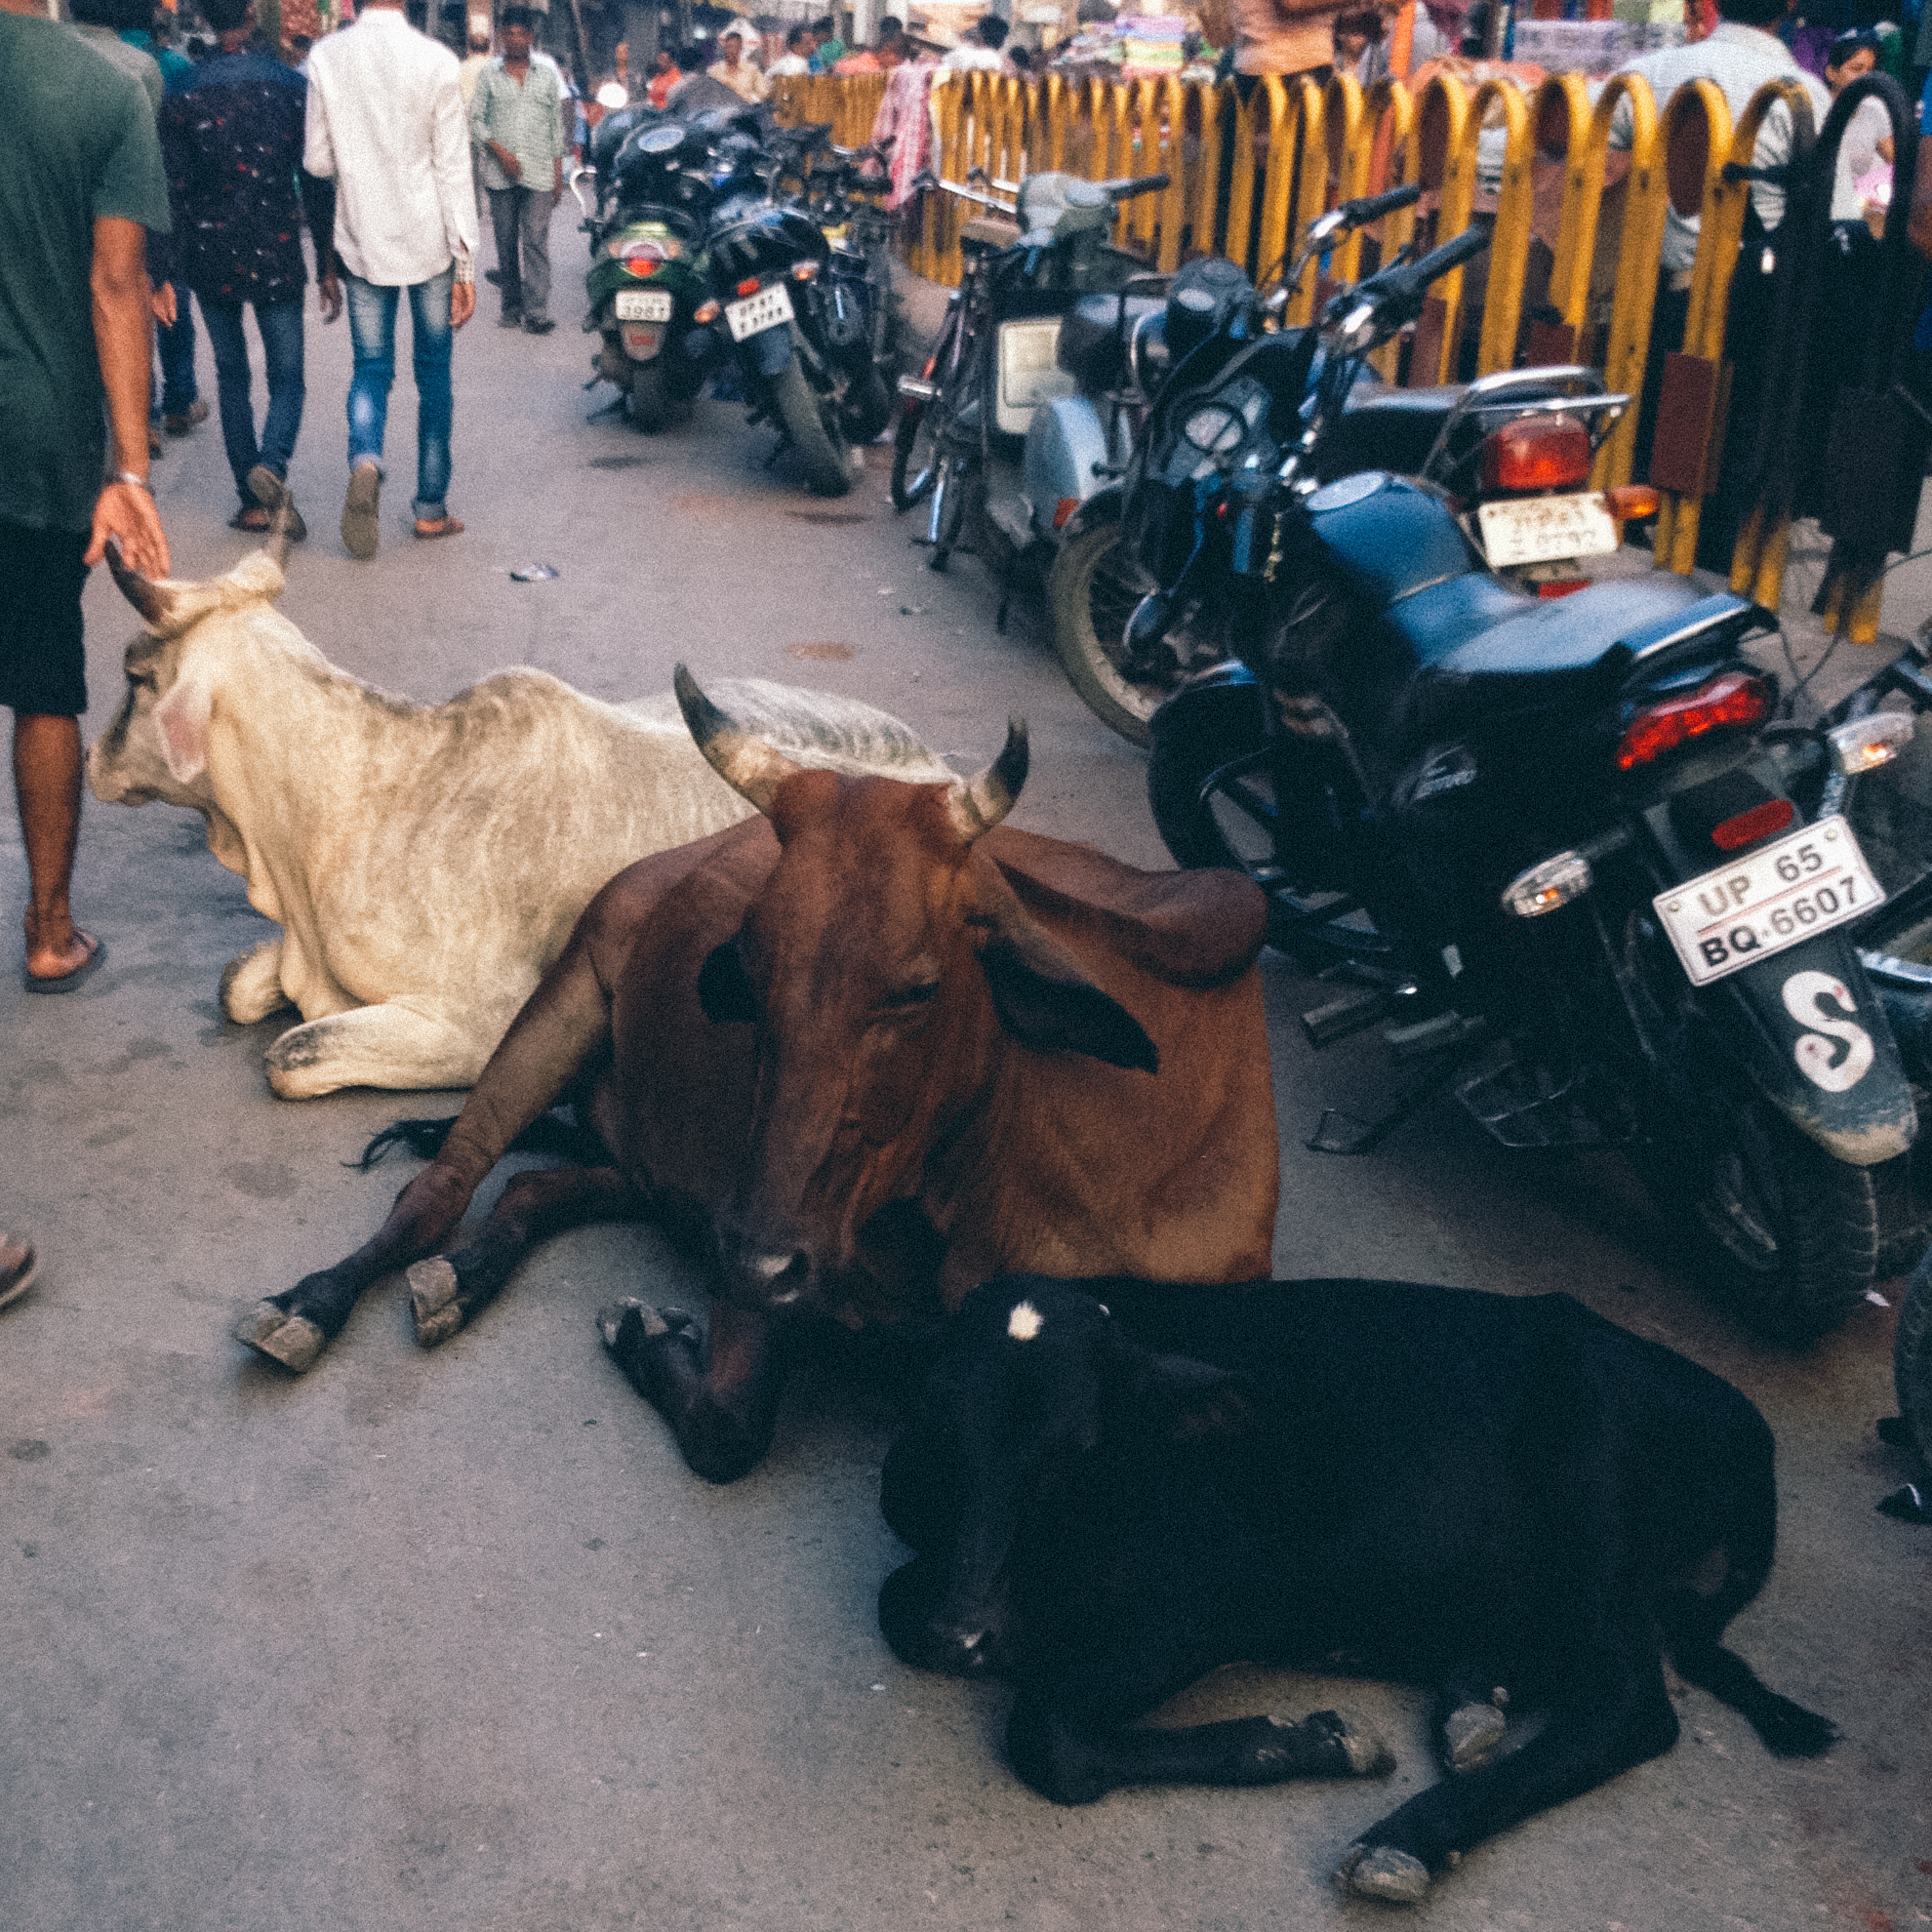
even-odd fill
[{"label": "black rear fender painted with a white letter S", "polygon": [[1704,987],[1698,1003],[1752,1086],[1820,1148],[1853,1167],[1911,1148],[1911,1080],[1843,931],[1747,966]]}]

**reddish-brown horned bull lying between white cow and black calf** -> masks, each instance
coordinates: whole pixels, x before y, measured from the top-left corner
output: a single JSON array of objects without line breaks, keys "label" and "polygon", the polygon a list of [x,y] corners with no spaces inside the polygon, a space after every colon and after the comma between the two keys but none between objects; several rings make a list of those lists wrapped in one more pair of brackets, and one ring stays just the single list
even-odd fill
[{"label": "reddish-brown horned bull lying between white cow and black calf", "polygon": [[[956,1308],[1030,1269],[1244,1281],[1271,1264],[1279,1157],[1233,871],[1142,873],[995,829],[1026,726],[951,784],[848,779],[742,732],[678,670],[705,757],[759,810],[618,873],[578,922],[437,1159],[346,1262],[240,1335],[307,1368],[406,1262],[417,1341],[452,1335],[543,1235],[651,1215],[717,1258],[709,1349],[639,1302],[599,1320],[686,1461],[771,1439],[775,1321]],[[512,1180],[435,1256],[516,1136],[570,1097],[609,1167]]]}]

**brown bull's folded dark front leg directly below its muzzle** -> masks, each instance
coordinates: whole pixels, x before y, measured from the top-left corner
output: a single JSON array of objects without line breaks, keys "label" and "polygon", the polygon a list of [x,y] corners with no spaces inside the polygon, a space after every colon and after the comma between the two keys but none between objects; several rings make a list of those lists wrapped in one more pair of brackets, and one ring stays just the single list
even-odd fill
[{"label": "brown bull's folded dark front leg directly below its muzzle", "polygon": [[614,1302],[597,1316],[611,1358],[670,1424],[678,1449],[707,1482],[736,1482],[771,1447],[784,1370],[771,1320],[711,1302],[711,1333],[682,1308]]}]

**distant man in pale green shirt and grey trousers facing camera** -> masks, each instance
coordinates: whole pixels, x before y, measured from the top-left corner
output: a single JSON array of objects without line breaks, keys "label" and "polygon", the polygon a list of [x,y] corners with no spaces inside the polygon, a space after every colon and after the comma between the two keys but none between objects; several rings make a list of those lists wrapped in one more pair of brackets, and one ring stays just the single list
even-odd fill
[{"label": "distant man in pale green shirt and grey trousers facing camera", "polygon": [[469,102],[469,137],[483,155],[483,185],[497,232],[502,292],[498,328],[522,325],[547,336],[551,319],[551,213],[564,187],[564,91],[556,64],[533,58],[537,15],[504,8],[502,54],[477,79]]}]

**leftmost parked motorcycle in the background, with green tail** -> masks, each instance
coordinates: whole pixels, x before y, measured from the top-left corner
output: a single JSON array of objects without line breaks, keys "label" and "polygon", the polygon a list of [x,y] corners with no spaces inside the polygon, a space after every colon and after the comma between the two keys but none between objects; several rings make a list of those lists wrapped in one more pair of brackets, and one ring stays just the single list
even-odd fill
[{"label": "leftmost parked motorcycle in the background, with green tail", "polygon": [[591,383],[624,390],[643,431],[688,413],[723,352],[705,272],[713,139],[701,122],[624,108],[599,124],[593,166],[570,176],[595,249],[583,330],[603,346]]}]

